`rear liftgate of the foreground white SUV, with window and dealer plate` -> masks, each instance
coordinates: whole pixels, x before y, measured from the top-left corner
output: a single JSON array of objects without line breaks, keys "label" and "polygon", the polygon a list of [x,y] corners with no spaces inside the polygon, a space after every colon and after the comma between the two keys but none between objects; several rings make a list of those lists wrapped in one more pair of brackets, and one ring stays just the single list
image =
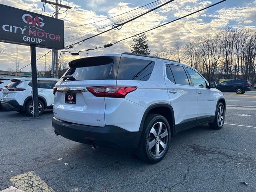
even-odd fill
[{"label": "rear liftgate of the foreground white SUV, with window and dealer plate", "polygon": [[[105,126],[105,98],[88,87],[116,86],[120,57],[100,56],[74,60],[56,84],[54,116],[67,122]],[[54,90],[55,92],[55,90]]]}]

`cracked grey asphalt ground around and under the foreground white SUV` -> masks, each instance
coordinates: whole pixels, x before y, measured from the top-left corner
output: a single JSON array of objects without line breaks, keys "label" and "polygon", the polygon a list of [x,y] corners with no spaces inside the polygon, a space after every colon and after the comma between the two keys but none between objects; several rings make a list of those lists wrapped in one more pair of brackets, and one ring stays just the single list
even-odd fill
[{"label": "cracked grey asphalt ground around and under the foreground white SUV", "polygon": [[255,192],[256,93],[225,97],[224,127],[176,134],[158,164],[142,162],[131,151],[92,150],[56,136],[51,111],[36,119],[0,111],[0,190]]}]

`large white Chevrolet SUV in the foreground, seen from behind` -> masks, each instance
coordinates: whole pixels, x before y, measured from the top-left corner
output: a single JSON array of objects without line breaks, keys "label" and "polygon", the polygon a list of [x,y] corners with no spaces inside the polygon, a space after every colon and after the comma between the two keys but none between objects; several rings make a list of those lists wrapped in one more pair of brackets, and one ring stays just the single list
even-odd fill
[{"label": "large white Chevrolet SUV in the foreground, seen from behind", "polygon": [[123,53],[73,60],[54,88],[56,135],[103,147],[135,148],[156,163],[171,137],[224,124],[225,98],[190,66]]}]

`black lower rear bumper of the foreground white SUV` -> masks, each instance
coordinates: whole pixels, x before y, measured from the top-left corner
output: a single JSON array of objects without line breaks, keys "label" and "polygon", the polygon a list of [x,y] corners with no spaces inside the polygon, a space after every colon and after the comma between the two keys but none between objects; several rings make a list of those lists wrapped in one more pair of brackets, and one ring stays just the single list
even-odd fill
[{"label": "black lower rear bumper of the foreground white SUV", "polygon": [[129,132],[117,126],[88,126],[70,123],[52,118],[52,126],[56,132],[67,138],[80,143],[96,145],[104,148],[137,148],[141,132]]}]

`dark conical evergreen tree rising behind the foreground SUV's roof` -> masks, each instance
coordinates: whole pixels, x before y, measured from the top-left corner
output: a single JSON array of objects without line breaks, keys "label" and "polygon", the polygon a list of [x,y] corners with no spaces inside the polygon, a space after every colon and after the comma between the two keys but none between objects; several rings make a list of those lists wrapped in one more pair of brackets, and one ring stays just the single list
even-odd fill
[{"label": "dark conical evergreen tree rising behind the foreground SUV's roof", "polygon": [[132,53],[149,55],[150,50],[148,49],[148,40],[146,34],[141,34],[133,38],[133,44],[131,44]]}]

